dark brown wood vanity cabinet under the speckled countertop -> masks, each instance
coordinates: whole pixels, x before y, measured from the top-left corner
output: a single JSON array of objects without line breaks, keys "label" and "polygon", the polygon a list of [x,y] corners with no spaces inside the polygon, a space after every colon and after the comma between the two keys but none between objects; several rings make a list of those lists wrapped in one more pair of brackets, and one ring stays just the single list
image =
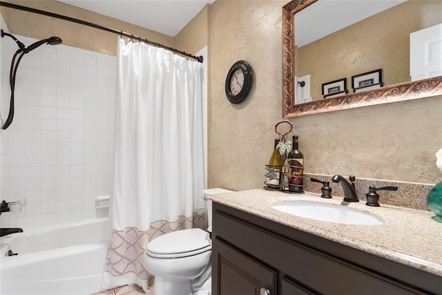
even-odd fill
[{"label": "dark brown wood vanity cabinet under the speckled countertop", "polygon": [[442,294],[441,276],[218,203],[212,242],[212,294]]}]

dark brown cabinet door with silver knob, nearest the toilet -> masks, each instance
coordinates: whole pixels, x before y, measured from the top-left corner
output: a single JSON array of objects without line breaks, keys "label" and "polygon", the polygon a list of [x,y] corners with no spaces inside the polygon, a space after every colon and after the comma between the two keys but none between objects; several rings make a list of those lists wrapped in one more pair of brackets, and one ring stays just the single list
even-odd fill
[{"label": "dark brown cabinet door with silver knob, nearest the toilet", "polygon": [[213,294],[260,295],[261,289],[276,294],[276,272],[216,238],[212,259]]}]

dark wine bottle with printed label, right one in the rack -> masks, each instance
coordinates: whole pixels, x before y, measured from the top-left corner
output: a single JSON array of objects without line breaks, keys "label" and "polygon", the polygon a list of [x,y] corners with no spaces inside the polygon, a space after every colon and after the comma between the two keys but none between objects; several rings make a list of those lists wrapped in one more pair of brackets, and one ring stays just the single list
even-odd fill
[{"label": "dark wine bottle with printed label, right one in the rack", "polygon": [[293,136],[293,149],[287,155],[289,164],[289,191],[304,193],[304,155],[299,150],[298,135]]}]

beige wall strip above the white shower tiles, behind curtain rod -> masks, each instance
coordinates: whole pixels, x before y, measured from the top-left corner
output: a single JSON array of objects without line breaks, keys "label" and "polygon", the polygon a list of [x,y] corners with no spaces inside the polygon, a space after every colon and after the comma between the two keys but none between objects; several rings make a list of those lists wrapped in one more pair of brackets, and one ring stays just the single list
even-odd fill
[{"label": "beige wall strip above the white shower tiles, behind curtain rod", "polygon": [[[8,2],[90,21],[106,28],[123,30],[124,32],[144,37],[166,46],[175,46],[174,39],[167,35],[70,6],[63,2],[55,0],[8,0]],[[8,30],[12,34],[34,37],[36,39],[58,36],[63,40],[63,44],[68,46],[93,50],[108,55],[116,54],[117,35],[112,32],[11,8],[2,7],[0,11],[8,25]]]}]

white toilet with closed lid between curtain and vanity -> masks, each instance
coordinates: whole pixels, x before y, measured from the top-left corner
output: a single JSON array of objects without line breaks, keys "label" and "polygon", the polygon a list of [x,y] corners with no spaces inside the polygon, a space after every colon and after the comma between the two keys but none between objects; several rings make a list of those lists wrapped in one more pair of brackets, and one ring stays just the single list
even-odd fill
[{"label": "white toilet with closed lid between curtain and vanity", "polygon": [[[155,276],[155,295],[192,294],[191,280],[204,272],[211,278],[209,267],[212,243],[209,238],[212,225],[212,204],[207,198],[216,193],[231,193],[228,189],[204,189],[209,228],[183,229],[164,234],[148,242],[143,266]],[[204,284],[204,286],[209,284]],[[210,291],[210,289],[209,289]]]}]

